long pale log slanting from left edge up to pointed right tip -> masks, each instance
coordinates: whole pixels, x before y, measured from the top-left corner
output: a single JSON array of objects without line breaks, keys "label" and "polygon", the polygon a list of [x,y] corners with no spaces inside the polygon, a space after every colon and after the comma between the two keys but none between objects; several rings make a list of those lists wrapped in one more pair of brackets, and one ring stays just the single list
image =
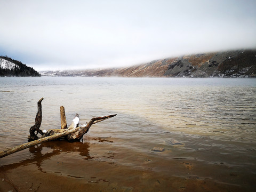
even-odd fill
[{"label": "long pale log slanting from left edge up to pointed right tip", "polygon": [[[41,138],[41,139],[38,139],[38,140],[35,140],[35,141],[30,141],[30,142],[27,142],[27,143],[23,143],[22,145],[15,146],[15,147],[12,147],[10,149],[3,150],[3,151],[0,152],[0,158],[5,157],[5,156],[10,155],[10,154],[13,154],[13,153],[18,152],[18,151],[21,151],[23,149],[29,148],[31,146],[38,145],[39,143],[55,140],[55,139],[58,139],[60,137],[65,137],[66,135],[69,135],[71,133],[75,133],[77,131],[83,130],[83,132],[86,133],[90,129],[91,125],[93,125],[95,123],[98,123],[100,121],[103,121],[105,119],[108,119],[110,117],[114,117],[114,116],[116,116],[116,114],[107,115],[107,116],[103,116],[103,117],[94,117],[90,120],[90,122],[86,126],[79,126],[79,127],[73,128],[73,129],[63,130],[63,132],[55,133],[55,134],[53,134],[49,137]],[[79,134],[79,137],[80,137],[80,134]],[[73,137],[71,137],[71,138],[73,138]]]}]

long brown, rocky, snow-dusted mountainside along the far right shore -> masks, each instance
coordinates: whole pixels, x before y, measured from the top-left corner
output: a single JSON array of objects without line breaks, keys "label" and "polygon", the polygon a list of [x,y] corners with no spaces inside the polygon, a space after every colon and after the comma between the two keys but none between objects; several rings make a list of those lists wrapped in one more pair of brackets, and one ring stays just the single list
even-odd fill
[{"label": "long brown, rocky, snow-dusted mountainside along the far right shore", "polygon": [[47,76],[256,77],[256,50],[183,55],[126,68],[42,71]]}]

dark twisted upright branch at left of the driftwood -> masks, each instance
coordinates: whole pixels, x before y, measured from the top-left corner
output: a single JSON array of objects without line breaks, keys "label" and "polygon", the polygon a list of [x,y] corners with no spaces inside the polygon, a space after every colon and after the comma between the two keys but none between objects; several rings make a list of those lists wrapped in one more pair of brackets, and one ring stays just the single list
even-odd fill
[{"label": "dark twisted upright branch at left of the driftwood", "polygon": [[[35,125],[31,126],[29,129],[30,135],[28,136],[28,141],[33,141],[38,139],[37,134],[40,133],[43,135],[43,132],[39,129],[42,123],[42,104],[41,102],[43,101],[44,98],[41,98],[37,102],[37,113],[36,113],[36,118],[35,118]],[[37,133],[35,133],[37,132]]]}]

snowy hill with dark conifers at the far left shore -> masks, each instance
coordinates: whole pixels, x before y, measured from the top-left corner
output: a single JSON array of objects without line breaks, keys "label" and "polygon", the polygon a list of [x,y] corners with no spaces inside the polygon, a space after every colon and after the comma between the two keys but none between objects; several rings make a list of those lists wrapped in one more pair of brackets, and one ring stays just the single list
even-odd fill
[{"label": "snowy hill with dark conifers at the far left shore", "polygon": [[20,61],[0,56],[0,76],[40,77],[41,75]]}]

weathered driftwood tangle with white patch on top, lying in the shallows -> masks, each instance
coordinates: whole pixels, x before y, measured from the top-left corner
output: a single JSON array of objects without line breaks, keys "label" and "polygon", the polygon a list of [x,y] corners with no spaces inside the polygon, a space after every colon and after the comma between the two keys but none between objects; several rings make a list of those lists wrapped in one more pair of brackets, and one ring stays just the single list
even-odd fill
[{"label": "weathered driftwood tangle with white patch on top, lying in the shallows", "polygon": [[[13,154],[18,151],[21,151],[23,149],[29,148],[31,146],[38,145],[39,143],[56,140],[56,139],[62,138],[62,137],[65,137],[65,139],[68,141],[79,141],[83,137],[83,135],[89,131],[90,127],[93,124],[116,116],[116,114],[113,114],[113,115],[107,115],[107,116],[103,116],[103,117],[93,117],[89,121],[89,123],[87,123],[86,125],[77,126],[78,122],[79,122],[79,117],[78,117],[78,115],[76,115],[76,117],[73,119],[73,121],[72,121],[71,125],[68,127],[68,129],[51,129],[51,130],[48,130],[45,133],[43,133],[39,129],[41,122],[42,122],[42,106],[41,106],[42,100],[43,100],[43,98],[37,102],[38,111],[36,114],[35,125],[32,126],[29,130],[29,132],[30,132],[29,140],[31,140],[33,137],[34,137],[34,140],[27,142],[27,143],[23,143],[22,145],[15,146],[10,149],[1,151],[0,158],[5,157],[10,154]],[[65,118],[65,120],[66,120],[66,118]],[[38,138],[37,135],[35,134],[35,131],[42,134],[42,137]],[[31,133],[32,133],[32,136],[31,136]]]}]

